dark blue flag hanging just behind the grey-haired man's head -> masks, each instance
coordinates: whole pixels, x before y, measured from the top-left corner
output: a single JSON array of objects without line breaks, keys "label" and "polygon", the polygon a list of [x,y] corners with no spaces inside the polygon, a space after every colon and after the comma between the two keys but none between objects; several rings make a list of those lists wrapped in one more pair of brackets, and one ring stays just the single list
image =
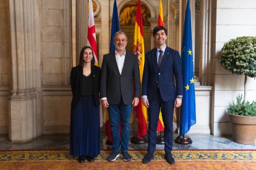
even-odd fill
[{"label": "dark blue flag hanging just behind the grey-haired man's head", "polygon": [[119,18],[117,13],[117,6],[116,6],[116,0],[114,0],[114,6],[113,6],[113,15],[112,15],[112,26],[111,26],[111,39],[110,39],[110,48],[109,51],[114,51],[114,33],[119,31]]}]

